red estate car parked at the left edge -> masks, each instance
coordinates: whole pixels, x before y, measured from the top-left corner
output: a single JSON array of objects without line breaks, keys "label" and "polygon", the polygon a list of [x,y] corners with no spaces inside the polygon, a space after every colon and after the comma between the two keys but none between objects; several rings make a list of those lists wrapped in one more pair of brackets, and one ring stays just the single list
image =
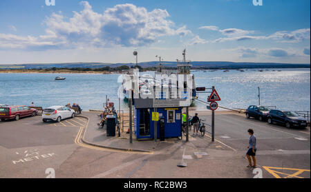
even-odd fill
[{"label": "red estate car parked at the left edge", "polygon": [[37,109],[31,109],[24,105],[2,105],[2,107],[0,107],[1,120],[19,120],[19,118],[26,116],[37,116],[37,113]]}]

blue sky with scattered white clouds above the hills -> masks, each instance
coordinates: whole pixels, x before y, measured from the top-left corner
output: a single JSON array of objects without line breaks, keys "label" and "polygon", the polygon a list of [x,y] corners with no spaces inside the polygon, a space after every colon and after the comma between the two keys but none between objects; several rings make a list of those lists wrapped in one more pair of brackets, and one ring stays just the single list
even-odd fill
[{"label": "blue sky with scattered white clouds above the hills", "polygon": [[54,2],[0,1],[0,64],[310,63],[310,0]]}]

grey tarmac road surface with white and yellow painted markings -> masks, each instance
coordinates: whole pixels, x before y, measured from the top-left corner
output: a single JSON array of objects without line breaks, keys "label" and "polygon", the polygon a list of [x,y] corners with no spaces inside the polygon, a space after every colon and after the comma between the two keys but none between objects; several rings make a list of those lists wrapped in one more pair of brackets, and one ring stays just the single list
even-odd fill
[{"label": "grey tarmac road surface with white and yellow painted markings", "polygon": [[[209,122],[210,116],[200,118]],[[0,122],[0,178],[46,178],[48,168],[55,170],[56,178],[253,178],[244,157],[249,128],[258,138],[263,178],[310,178],[310,129],[216,114],[216,142],[209,134],[190,136],[190,142],[180,141],[149,155],[81,147],[75,138],[84,125],[86,119],[80,117],[61,123],[44,123],[41,116]],[[187,167],[180,168],[176,165],[184,150]]]}]

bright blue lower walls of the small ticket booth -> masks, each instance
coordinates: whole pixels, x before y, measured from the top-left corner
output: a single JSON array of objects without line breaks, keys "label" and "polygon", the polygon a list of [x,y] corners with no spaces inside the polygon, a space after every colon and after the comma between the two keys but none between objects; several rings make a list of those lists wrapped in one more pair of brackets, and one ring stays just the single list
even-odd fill
[{"label": "bright blue lower walls of the small ticket booth", "polygon": [[[134,131],[138,139],[154,138],[153,108],[134,109]],[[157,108],[157,138],[177,138],[181,136],[182,107]]]}]

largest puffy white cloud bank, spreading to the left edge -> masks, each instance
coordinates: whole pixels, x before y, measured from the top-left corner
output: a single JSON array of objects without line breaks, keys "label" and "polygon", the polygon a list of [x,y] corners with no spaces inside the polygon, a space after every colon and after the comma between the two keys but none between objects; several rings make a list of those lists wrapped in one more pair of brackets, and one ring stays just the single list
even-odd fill
[{"label": "largest puffy white cloud bank, spreading to the left edge", "polygon": [[[84,47],[124,47],[144,46],[155,43],[161,36],[186,36],[192,34],[184,25],[177,28],[168,19],[167,10],[146,8],[133,4],[120,4],[107,8],[102,14],[94,12],[87,1],[80,3],[84,9],[73,12],[73,17],[65,19],[62,12],[46,17],[46,34],[32,36],[12,36],[0,34],[0,47],[28,49],[40,48],[84,48]],[[8,38],[10,37],[10,38]],[[19,41],[22,40],[22,41]]]}]

